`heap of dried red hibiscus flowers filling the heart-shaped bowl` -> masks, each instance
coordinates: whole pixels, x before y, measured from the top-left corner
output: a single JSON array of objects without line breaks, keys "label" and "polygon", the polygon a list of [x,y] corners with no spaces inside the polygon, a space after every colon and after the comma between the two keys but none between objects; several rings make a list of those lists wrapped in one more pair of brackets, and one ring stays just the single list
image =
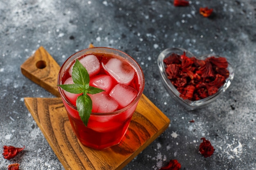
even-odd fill
[{"label": "heap of dried red hibiscus flowers filling the heart-shaped bowl", "polygon": [[229,77],[228,62],[225,57],[208,57],[198,60],[172,53],[163,60],[165,72],[180,97],[191,101],[204,99],[218,92]]}]

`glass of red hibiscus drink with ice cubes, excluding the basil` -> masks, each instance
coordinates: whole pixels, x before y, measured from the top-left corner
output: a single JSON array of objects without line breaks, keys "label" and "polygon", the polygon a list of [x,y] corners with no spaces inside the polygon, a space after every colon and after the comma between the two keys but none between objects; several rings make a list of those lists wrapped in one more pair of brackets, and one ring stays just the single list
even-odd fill
[{"label": "glass of red hibiscus drink with ice cubes, excluding the basil", "polygon": [[120,143],[144,89],[144,74],[139,64],[126,53],[105,47],[89,48],[70,56],[61,67],[58,84],[74,84],[72,68],[78,59],[90,76],[90,86],[101,93],[88,94],[92,113],[85,126],[73,94],[58,88],[73,131],[88,147],[104,149]]}]

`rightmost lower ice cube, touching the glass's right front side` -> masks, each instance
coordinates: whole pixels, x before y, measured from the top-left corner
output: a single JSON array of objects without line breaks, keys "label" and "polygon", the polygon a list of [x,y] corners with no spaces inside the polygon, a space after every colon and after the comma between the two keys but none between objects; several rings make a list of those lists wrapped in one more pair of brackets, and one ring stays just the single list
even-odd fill
[{"label": "rightmost lower ice cube, touching the glass's right front side", "polygon": [[137,94],[138,92],[134,88],[126,84],[117,84],[109,93],[121,107],[128,106],[128,104],[135,99]]}]

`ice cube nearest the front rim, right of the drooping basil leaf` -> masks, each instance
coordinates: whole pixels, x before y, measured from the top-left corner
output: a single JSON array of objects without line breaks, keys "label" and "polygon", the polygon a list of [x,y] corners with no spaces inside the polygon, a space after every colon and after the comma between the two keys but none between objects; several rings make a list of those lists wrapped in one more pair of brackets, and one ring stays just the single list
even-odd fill
[{"label": "ice cube nearest the front rim, right of the drooping basil leaf", "polygon": [[117,110],[118,103],[110,97],[106,92],[89,94],[92,99],[92,112],[108,113]]}]

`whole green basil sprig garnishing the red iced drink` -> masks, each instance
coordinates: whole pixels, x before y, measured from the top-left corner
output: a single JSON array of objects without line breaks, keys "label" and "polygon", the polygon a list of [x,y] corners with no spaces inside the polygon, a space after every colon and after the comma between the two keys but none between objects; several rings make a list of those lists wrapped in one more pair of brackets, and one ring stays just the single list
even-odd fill
[{"label": "whole green basil sprig garnishing the red iced drink", "polygon": [[70,93],[83,93],[76,99],[76,108],[78,110],[79,116],[81,117],[81,120],[83,121],[83,124],[87,126],[90,115],[92,113],[92,99],[87,93],[96,94],[104,90],[89,86],[89,74],[83,64],[81,64],[81,62],[79,62],[77,59],[73,66],[72,79],[74,84],[58,84],[58,86]]}]

